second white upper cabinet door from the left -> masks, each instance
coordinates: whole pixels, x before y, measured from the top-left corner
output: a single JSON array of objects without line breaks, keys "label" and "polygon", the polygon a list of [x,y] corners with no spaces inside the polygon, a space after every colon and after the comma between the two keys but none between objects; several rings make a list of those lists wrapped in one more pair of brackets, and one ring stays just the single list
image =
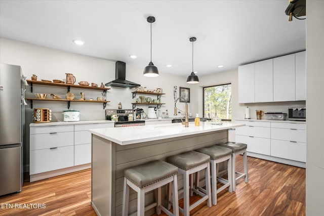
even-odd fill
[{"label": "second white upper cabinet door from the left", "polygon": [[254,64],[255,102],[273,101],[273,59]]}]

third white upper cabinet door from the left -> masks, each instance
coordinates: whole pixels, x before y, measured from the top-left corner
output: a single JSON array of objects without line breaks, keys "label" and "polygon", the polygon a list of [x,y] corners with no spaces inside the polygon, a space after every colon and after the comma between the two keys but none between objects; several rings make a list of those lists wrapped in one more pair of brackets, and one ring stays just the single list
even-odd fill
[{"label": "third white upper cabinet door from the left", "polygon": [[273,59],[273,101],[295,101],[295,54]]}]

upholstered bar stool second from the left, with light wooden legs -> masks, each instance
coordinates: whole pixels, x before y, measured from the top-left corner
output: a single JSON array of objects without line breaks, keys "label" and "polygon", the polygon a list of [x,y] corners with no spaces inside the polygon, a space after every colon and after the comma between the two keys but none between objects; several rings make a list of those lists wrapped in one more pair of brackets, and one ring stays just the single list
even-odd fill
[{"label": "upholstered bar stool second from the left, with light wooden legs", "polygon": [[[167,159],[167,161],[171,164],[174,164],[178,167],[178,172],[183,174],[183,191],[179,191],[179,193],[183,192],[183,209],[179,207],[181,213],[185,216],[189,216],[189,212],[191,209],[197,207],[199,204],[207,200],[207,206],[212,206],[212,196],[211,196],[211,175],[210,175],[210,156],[196,152],[196,151],[188,151],[182,154],[173,155]],[[192,188],[193,184],[191,184],[191,191],[194,191],[198,195],[202,196],[198,201],[194,204],[189,205],[189,176],[198,172],[200,170],[205,170],[205,178],[206,178],[206,192],[203,193],[198,190],[198,188]],[[169,194],[169,203],[170,203],[170,194]]]}]

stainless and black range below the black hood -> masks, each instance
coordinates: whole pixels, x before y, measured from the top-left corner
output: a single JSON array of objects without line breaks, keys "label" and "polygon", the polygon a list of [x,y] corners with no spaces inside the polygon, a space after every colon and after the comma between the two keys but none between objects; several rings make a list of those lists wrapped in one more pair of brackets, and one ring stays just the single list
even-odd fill
[{"label": "stainless and black range below the black hood", "polygon": [[[113,120],[112,116],[115,114],[118,115],[115,127],[145,125],[145,120],[134,119],[134,111],[132,109],[106,109],[106,120]],[[133,121],[128,119],[130,114],[133,115]]]}]

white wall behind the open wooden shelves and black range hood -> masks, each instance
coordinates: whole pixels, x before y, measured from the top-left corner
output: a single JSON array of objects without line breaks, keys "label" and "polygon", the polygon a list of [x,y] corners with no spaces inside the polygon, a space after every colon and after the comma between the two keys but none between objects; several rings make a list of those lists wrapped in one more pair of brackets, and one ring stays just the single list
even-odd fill
[{"label": "white wall behind the open wooden shelves and black range hood", "polygon": [[[115,79],[115,62],[40,47],[7,38],[0,38],[0,62],[20,65],[27,79],[31,79],[32,74],[35,74],[37,75],[37,80],[61,79],[65,81],[65,73],[72,73],[76,77],[76,84],[84,80],[100,85],[101,82],[107,83]],[[174,85],[177,85],[178,89],[180,86],[193,88],[193,85],[186,83],[186,77],[162,73],[161,69],[163,68],[159,68],[160,75],[158,77],[144,77],[143,68],[126,65],[126,79],[139,83],[143,87],[147,87],[147,89],[162,88],[163,93],[166,95],[161,97],[161,103],[166,104],[161,106],[161,110],[165,111],[168,109],[169,116],[173,117]],[[123,105],[123,109],[132,109],[131,103],[135,102],[135,99],[132,99],[132,91],[135,90],[112,87],[107,91],[106,100],[110,101],[110,103],[107,103],[106,109],[117,109],[119,102]],[[80,98],[80,92],[85,93],[86,99],[101,97],[101,91],[71,88],[71,92],[76,99]],[[65,98],[67,88],[33,85],[33,93],[30,93],[30,87],[27,87],[26,97],[35,98],[34,93],[53,93]],[[51,98],[50,95],[48,98]],[[154,97],[152,98],[154,99]],[[180,109],[183,109],[183,105],[184,103],[177,103]],[[192,112],[192,107],[193,103],[189,103],[189,112]],[[33,101],[33,108],[50,108],[53,111],[52,121],[62,121],[62,111],[67,109],[67,102]],[[148,106],[142,106],[141,108],[146,111]],[[80,120],[105,119],[105,112],[101,103],[71,102],[70,109],[80,110]],[[27,143],[24,147],[24,164],[29,163],[28,125],[32,122],[32,111],[33,109],[30,108],[30,105],[26,106]]]}]

